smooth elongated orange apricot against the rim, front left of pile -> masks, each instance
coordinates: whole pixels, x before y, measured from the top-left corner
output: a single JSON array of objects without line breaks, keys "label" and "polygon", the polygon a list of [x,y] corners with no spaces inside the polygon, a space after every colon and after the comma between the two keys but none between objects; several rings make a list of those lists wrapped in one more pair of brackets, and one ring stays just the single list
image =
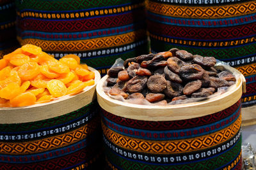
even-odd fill
[{"label": "smooth elongated orange apricot against the rim, front left of pile", "polygon": [[35,104],[36,96],[31,92],[24,92],[19,94],[18,96],[10,99],[10,104],[13,107],[21,107]]}]

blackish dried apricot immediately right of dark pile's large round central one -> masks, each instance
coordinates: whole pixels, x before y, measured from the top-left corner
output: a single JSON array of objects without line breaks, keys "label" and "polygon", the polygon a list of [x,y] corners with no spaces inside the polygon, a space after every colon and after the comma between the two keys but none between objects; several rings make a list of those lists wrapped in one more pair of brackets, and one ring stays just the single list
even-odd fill
[{"label": "blackish dried apricot immediately right of dark pile's large round central one", "polygon": [[164,94],[170,98],[180,96],[182,94],[183,87],[179,83],[167,81],[167,87],[164,90]]}]

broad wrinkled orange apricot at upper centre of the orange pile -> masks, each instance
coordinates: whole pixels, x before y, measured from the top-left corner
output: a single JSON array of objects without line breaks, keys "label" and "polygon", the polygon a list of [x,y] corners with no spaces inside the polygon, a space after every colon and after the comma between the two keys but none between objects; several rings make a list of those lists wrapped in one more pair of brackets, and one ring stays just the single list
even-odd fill
[{"label": "broad wrinkled orange apricot at upper centre of the orange pile", "polygon": [[30,80],[40,73],[40,68],[36,62],[28,62],[20,66],[18,74],[21,80]]}]

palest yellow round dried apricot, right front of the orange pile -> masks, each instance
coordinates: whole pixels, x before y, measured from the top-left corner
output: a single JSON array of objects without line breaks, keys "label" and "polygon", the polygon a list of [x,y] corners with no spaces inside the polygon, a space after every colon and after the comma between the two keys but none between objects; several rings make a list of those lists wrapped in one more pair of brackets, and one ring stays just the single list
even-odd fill
[{"label": "palest yellow round dried apricot, right front of the orange pile", "polygon": [[49,90],[50,94],[54,97],[61,97],[67,94],[67,87],[60,80],[53,79],[48,81],[47,89]]}]

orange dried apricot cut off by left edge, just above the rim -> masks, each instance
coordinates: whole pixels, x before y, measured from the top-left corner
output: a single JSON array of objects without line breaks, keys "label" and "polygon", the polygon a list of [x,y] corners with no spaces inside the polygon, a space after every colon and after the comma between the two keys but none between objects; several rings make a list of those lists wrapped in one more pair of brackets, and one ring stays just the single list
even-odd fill
[{"label": "orange dried apricot cut off by left edge, just above the rim", "polygon": [[12,99],[20,94],[20,86],[18,83],[9,83],[0,90],[0,97],[4,99]]}]

